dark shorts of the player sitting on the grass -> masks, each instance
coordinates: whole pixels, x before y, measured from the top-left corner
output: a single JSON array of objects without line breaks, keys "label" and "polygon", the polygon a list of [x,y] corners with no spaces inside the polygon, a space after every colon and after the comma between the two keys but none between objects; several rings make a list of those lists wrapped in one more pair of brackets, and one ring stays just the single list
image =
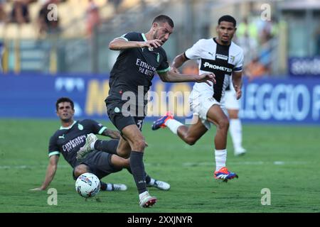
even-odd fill
[{"label": "dark shorts of the player sitting on the grass", "polygon": [[[85,157],[85,159],[79,163],[85,164],[89,167],[88,172],[93,173],[99,179],[110,175],[113,172],[119,172],[122,168],[114,167],[111,163],[112,154],[105,153],[102,151],[94,150]],[[73,171],[73,178],[75,179],[74,171]]]}]

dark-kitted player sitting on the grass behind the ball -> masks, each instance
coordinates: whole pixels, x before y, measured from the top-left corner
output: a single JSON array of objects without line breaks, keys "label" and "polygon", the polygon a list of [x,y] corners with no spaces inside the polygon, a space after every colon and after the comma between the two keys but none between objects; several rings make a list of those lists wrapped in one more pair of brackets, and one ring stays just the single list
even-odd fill
[{"label": "dark-kitted player sitting on the grass behind the ball", "polygon": [[[41,187],[35,191],[48,188],[53,181],[58,167],[60,155],[73,167],[73,178],[77,179],[82,173],[91,172],[99,179],[114,172],[119,172],[123,168],[131,172],[129,159],[119,157],[116,152],[119,143],[119,132],[106,128],[101,123],[91,119],[75,121],[74,104],[68,97],[61,97],[55,103],[56,114],[60,118],[61,126],[50,138],[48,156],[49,164],[46,177]],[[112,140],[97,140],[95,134],[105,135]],[[85,145],[94,143],[94,148],[90,150],[82,159],[77,159],[78,151]],[[146,174],[145,174],[146,175]],[[156,187],[161,190],[169,190],[170,185],[166,182],[151,178],[146,175],[146,182],[149,187]],[[107,184],[101,182],[102,191],[124,191],[127,186],[124,184]]]}]

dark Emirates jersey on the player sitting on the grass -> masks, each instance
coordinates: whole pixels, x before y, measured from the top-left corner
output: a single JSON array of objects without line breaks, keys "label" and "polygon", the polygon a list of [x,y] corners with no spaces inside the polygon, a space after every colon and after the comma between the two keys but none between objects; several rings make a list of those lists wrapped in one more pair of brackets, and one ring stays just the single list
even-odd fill
[{"label": "dark Emirates jersey on the player sitting on the grass", "polygon": [[101,134],[106,127],[101,123],[86,119],[83,121],[75,121],[68,128],[62,126],[50,138],[49,157],[51,155],[60,155],[62,153],[65,160],[72,166],[77,165],[77,152],[85,145],[87,134]]}]

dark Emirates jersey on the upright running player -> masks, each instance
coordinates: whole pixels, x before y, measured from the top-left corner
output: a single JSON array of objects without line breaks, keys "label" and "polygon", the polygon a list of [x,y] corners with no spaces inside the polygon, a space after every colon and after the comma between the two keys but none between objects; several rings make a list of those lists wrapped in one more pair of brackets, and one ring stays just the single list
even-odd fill
[{"label": "dark Emirates jersey on the upright running player", "polygon": [[[146,41],[144,33],[122,35],[128,41]],[[122,50],[110,72],[110,91],[106,101],[122,100],[124,92],[139,95],[148,92],[155,72],[169,71],[169,63],[163,48],[129,48]],[[141,94],[142,93],[142,94]],[[143,99],[143,97],[142,97]]]}]

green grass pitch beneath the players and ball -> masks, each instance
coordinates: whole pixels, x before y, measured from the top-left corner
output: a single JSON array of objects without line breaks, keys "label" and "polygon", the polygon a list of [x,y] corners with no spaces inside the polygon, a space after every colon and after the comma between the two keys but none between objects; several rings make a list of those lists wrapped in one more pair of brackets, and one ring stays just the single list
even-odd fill
[{"label": "green grass pitch beneath the players and ball", "polygon": [[[105,123],[114,128],[110,123]],[[60,127],[53,120],[0,120],[0,212],[319,212],[320,128],[316,126],[244,125],[247,155],[234,157],[228,138],[230,170],[239,179],[213,179],[211,128],[196,145],[184,144],[169,129],[143,133],[146,171],[171,184],[168,192],[149,189],[158,197],[151,209],[140,209],[134,180],[127,170],[105,177],[124,183],[127,192],[100,192],[83,199],[75,192],[72,169],[60,157],[49,188],[58,192],[58,205],[48,205],[47,191],[31,192],[43,182],[48,165],[48,139]],[[270,189],[271,205],[262,206],[262,189]]]}]

